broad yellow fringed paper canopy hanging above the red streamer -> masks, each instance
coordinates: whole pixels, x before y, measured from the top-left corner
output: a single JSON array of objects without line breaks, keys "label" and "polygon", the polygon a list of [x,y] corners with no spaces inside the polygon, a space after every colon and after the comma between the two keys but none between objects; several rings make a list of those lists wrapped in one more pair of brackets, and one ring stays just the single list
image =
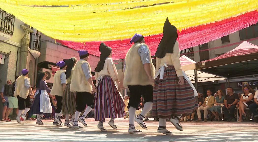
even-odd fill
[{"label": "broad yellow fringed paper canopy hanging above the red streamer", "polygon": [[77,42],[123,40],[135,33],[144,36],[159,34],[163,32],[166,17],[181,30],[222,21],[258,8],[257,0],[195,0],[99,13],[89,13],[83,6],[53,10],[51,7],[4,2],[0,5],[45,35]]}]

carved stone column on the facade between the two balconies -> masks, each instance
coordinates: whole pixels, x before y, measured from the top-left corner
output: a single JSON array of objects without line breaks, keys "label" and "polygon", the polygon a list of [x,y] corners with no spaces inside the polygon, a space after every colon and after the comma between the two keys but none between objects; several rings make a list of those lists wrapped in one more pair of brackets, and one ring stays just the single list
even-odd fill
[{"label": "carved stone column on the facade between the two balconies", "polygon": [[20,25],[20,27],[24,31],[24,36],[21,39],[21,61],[20,61],[20,70],[25,69],[27,67],[27,57],[28,57],[28,47],[30,44],[30,32],[32,32],[32,29],[30,29],[30,26],[27,24]]}]

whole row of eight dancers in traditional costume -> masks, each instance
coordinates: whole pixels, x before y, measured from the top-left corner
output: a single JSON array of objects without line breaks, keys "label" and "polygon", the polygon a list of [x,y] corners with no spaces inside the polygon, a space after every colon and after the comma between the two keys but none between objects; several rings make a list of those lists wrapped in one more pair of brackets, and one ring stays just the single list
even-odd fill
[{"label": "whole row of eight dancers in traditional costume", "polygon": [[[135,34],[130,41],[133,45],[126,54],[120,80],[112,60],[112,48],[101,43],[100,61],[95,68],[96,87],[92,80],[91,66],[87,61],[89,53],[87,50],[80,50],[78,61],[72,57],[57,63],[60,70],[55,73],[52,89],[46,84],[46,73],[38,73],[33,104],[30,103],[28,96],[29,93],[33,94],[29,84],[29,71],[23,69],[22,75],[16,80],[14,92],[19,105],[17,122],[21,123],[20,117],[25,119],[25,114],[31,108],[33,114],[37,114],[36,124],[43,125],[43,114],[52,113],[48,95],[50,93],[57,99],[53,125],[83,129],[82,125],[88,127],[86,116],[94,109],[95,121],[99,121],[97,127],[101,131],[107,131],[103,127],[105,118],[110,118],[108,124],[113,129],[119,129],[115,125],[115,119],[126,115],[125,103],[120,91],[128,88],[130,91],[127,107],[129,133],[142,133],[136,129],[134,122],[147,130],[143,120],[150,110],[152,110],[152,117],[159,118],[158,132],[172,134],[166,129],[166,119],[170,119],[176,129],[183,131],[179,118],[182,114],[192,113],[198,105],[194,96],[195,88],[191,87],[191,83],[183,77],[177,38],[177,29],[167,18],[163,27],[163,38],[155,53],[155,69],[144,37],[141,34]],[[135,117],[141,96],[145,100],[144,108],[141,114]],[[84,113],[80,116],[82,111]],[[66,118],[64,123],[61,121],[62,115]]]}]

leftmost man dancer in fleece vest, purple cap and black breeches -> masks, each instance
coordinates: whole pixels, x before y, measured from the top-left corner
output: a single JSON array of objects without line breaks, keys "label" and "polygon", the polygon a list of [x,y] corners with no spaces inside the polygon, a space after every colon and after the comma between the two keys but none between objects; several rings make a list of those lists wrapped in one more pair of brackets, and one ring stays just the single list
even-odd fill
[{"label": "leftmost man dancer in fleece vest, purple cap and black breeches", "polygon": [[18,123],[21,123],[20,116],[22,119],[26,120],[26,114],[31,107],[29,93],[34,95],[30,86],[30,79],[28,78],[29,70],[23,69],[21,73],[22,75],[16,80],[14,91],[14,96],[18,99],[19,112],[16,117]]}]

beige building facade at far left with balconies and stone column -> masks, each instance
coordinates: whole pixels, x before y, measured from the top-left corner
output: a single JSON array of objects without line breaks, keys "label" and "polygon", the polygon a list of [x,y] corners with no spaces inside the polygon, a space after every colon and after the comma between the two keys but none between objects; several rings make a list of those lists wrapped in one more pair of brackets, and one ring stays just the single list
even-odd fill
[{"label": "beige building facade at far left with balconies and stone column", "polygon": [[[36,57],[40,55],[40,52],[31,46],[34,43],[30,40],[32,34],[33,30],[29,25],[0,9],[1,89],[7,80],[14,82],[15,76],[20,76],[24,68],[29,70],[31,85],[35,84]],[[1,112],[2,108],[3,106],[0,105]],[[2,118],[2,113],[0,117]]]}]

